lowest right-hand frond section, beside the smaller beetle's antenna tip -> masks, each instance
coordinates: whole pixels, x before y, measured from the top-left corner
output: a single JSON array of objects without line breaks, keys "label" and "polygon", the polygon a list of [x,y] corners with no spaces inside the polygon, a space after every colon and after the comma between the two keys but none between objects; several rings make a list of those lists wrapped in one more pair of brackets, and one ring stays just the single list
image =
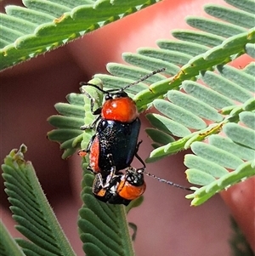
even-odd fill
[{"label": "lowest right-hand frond section, beside the smaller beetle's antenna tip", "polygon": [[[223,130],[228,138],[212,135],[208,139],[209,144],[194,142],[191,150],[196,156],[185,156],[184,164],[191,168],[186,171],[187,178],[195,185],[202,185],[194,194],[186,196],[193,198],[192,205],[199,205],[218,191],[255,174],[254,129],[229,122]],[[213,177],[218,179],[213,181]]]}]

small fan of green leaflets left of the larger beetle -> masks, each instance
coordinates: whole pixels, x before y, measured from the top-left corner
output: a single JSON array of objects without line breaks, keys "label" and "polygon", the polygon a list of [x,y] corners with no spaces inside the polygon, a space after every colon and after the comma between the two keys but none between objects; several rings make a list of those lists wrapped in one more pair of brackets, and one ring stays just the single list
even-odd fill
[{"label": "small fan of green leaflets left of the larger beetle", "polygon": [[[101,86],[101,81],[97,78],[89,81]],[[82,87],[85,91],[95,99],[94,108],[96,109],[102,102],[102,94],[97,89],[89,86]],[[48,117],[48,122],[56,129],[48,132],[48,139],[59,142],[60,149],[64,150],[63,158],[71,156],[77,149],[87,147],[88,141],[93,135],[93,131],[88,129],[82,131],[81,127],[90,125],[94,121],[94,115],[90,110],[90,100],[85,94],[68,94],[66,97],[68,103],[58,103],[55,105],[60,115]],[[82,140],[86,137],[86,143],[82,144]]]}]

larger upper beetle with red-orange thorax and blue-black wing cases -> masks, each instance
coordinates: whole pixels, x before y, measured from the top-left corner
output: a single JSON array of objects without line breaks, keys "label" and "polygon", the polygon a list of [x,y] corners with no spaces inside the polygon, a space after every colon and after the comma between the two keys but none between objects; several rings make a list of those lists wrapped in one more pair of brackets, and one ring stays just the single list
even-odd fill
[{"label": "larger upper beetle with red-orange thorax and blue-black wing cases", "polygon": [[94,128],[96,126],[96,133],[88,143],[87,149],[79,151],[78,154],[80,156],[86,156],[89,153],[88,169],[93,171],[94,174],[100,173],[105,179],[111,173],[109,154],[111,154],[116,170],[130,167],[134,156],[142,162],[138,155],[139,145],[141,143],[138,142],[141,126],[139,111],[135,102],[125,92],[125,89],[164,70],[163,68],[153,71],[141,77],[138,81],[117,90],[104,90],[92,83],[80,83],[82,86],[97,88],[105,94],[104,104],[94,111],[95,100],[90,94],[83,91],[91,100],[90,106],[92,113],[98,115],[98,117],[95,118],[90,126],[82,126],[82,129]]}]

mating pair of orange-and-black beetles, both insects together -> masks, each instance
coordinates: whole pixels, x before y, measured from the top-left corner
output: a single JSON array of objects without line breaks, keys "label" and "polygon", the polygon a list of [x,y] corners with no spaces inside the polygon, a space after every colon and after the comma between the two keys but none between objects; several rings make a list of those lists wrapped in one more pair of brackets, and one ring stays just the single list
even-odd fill
[{"label": "mating pair of orange-and-black beetles, both insects together", "polygon": [[[90,140],[88,148],[78,153],[80,156],[89,153],[88,169],[95,174],[92,190],[100,201],[128,205],[144,193],[146,188],[144,174],[169,185],[175,185],[145,172],[144,161],[138,155],[141,144],[141,141],[138,142],[141,125],[139,112],[135,102],[124,91],[164,70],[153,71],[117,90],[106,91],[92,83],[81,82],[82,86],[97,88],[105,94],[105,103],[94,111],[93,97],[86,91],[83,92],[91,100],[92,113],[98,117],[90,126],[82,127],[88,129],[96,126],[96,133]],[[142,163],[142,168],[136,169],[130,166],[134,156]],[[184,188],[180,185],[175,186]]]}]

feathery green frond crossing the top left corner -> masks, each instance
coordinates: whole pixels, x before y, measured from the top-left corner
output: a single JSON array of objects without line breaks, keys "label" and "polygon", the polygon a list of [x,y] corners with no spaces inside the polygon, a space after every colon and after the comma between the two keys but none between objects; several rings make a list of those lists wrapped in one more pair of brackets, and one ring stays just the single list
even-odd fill
[{"label": "feathery green frond crossing the top left corner", "polygon": [[158,0],[22,1],[0,14],[0,70],[57,48]]}]

